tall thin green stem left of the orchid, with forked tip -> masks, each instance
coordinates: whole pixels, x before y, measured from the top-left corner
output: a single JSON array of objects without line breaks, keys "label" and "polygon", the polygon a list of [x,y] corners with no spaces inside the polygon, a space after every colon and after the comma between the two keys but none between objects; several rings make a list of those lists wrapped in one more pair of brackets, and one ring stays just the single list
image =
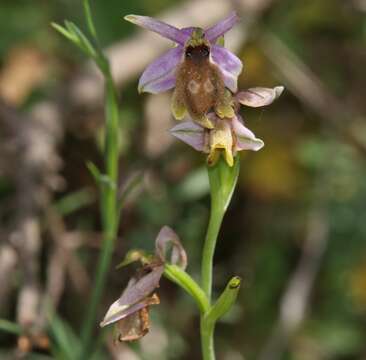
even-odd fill
[{"label": "tall thin green stem left of the orchid, with forked tip", "polygon": [[119,158],[119,107],[116,86],[110,71],[108,59],[98,46],[97,33],[94,26],[89,0],[83,0],[85,17],[92,41],[72,22],[65,21],[65,26],[52,24],[67,39],[78,46],[86,55],[93,59],[102,72],[105,81],[105,141],[104,171],[101,173],[95,165],[89,169],[96,178],[101,196],[101,216],[103,240],[99,255],[91,299],[81,332],[81,350],[77,354],[80,360],[90,358],[95,347],[93,331],[96,327],[98,305],[105,287],[105,280],[112,260],[114,244],[117,238],[120,206],[118,204],[118,158]]}]

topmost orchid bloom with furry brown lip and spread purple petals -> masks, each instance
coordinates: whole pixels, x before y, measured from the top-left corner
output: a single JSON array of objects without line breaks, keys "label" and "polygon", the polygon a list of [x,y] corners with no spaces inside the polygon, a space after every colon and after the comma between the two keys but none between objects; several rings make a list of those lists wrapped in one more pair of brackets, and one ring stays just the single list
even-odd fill
[{"label": "topmost orchid bloom with furry brown lip and spread purple petals", "polygon": [[220,118],[234,116],[231,93],[226,89],[237,91],[237,79],[243,65],[218,42],[237,22],[235,12],[206,30],[198,27],[178,29],[147,16],[128,15],[125,19],[176,44],[148,65],[140,77],[140,92],[157,94],[175,88],[174,117],[181,120],[188,113],[206,128],[213,127],[207,117],[212,108]]}]

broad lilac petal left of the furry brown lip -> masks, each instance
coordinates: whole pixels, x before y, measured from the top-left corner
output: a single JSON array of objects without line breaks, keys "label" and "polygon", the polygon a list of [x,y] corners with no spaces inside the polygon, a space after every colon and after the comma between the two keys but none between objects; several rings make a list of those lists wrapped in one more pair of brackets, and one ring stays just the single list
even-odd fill
[{"label": "broad lilac petal left of the furry brown lip", "polygon": [[170,49],[145,69],[139,80],[139,92],[157,94],[175,86],[175,70],[182,60],[182,46]]}]

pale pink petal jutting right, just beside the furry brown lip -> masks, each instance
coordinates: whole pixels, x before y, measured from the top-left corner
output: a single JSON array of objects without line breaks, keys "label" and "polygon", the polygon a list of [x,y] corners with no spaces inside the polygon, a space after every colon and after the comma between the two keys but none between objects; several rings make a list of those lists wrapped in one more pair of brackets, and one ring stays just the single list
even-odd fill
[{"label": "pale pink petal jutting right, just beside the furry brown lip", "polygon": [[283,92],[283,86],[275,88],[255,87],[245,91],[240,91],[236,99],[243,105],[251,107],[266,106],[272,104]]}]

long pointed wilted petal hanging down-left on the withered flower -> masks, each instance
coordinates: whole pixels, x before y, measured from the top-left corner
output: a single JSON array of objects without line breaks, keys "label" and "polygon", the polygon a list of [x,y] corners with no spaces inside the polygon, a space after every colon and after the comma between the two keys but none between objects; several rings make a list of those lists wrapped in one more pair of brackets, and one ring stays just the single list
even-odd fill
[{"label": "long pointed wilted petal hanging down-left on the withered flower", "polygon": [[164,265],[155,266],[140,279],[132,278],[121,297],[108,309],[100,326],[112,324],[146,307],[147,297],[159,286]]}]

